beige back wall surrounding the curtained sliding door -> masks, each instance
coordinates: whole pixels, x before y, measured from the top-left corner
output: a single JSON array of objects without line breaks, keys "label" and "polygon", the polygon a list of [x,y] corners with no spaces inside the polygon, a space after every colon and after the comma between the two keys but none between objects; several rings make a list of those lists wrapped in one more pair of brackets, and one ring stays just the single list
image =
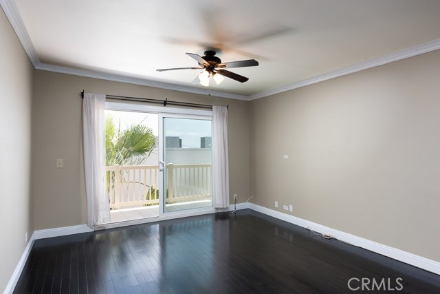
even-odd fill
[{"label": "beige back wall surrounding the curtained sliding door", "polygon": [[[36,70],[34,105],[35,227],[49,229],[85,224],[87,210],[81,172],[80,92],[230,105],[230,192],[249,197],[248,102],[152,87],[102,81]],[[56,169],[56,158],[64,168]],[[233,198],[231,200],[233,202]]]}]

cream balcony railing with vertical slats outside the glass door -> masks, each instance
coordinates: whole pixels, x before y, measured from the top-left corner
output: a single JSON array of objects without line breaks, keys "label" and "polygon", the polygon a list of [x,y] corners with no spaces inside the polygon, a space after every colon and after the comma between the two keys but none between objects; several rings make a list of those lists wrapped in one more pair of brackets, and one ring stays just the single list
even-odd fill
[{"label": "cream balcony railing with vertical slats outside the glass door", "polygon": [[[166,165],[166,203],[211,199],[212,165]],[[159,204],[157,165],[106,167],[110,209]]]}]

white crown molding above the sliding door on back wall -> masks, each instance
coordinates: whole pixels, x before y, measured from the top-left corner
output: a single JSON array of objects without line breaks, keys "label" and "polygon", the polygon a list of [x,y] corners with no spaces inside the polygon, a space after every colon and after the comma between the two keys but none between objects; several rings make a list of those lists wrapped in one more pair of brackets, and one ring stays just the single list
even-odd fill
[{"label": "white crown molding above the sliding door on back wall", "polygon": [[129,76],[123,76],[120,74],[106,74],[93,70],[78,70],[72,67],[63,67],[58,65],[50,65],[46,63],[39,63],[35,66],[36,70],[45,70],[47,72],[58,72],[61,74],[72,74],[74,76],[85,76],[87,78],[98,78],[101,80],[115,81],[120,83],[129,83],[134,85],[142,85],[147,87],[157,87],[165,90],[173,90],[179,92],[187,92],[192,94],[201,94],[207,96],[217,96],[222,98],[230,98],[237,100],[248,100],[248,96],[240,94],[232,94],[227,92],[219,92],[212,90],[199,89],[196,87],[188,87],[183,85],[174,85],[170,83],[162,83],[157,81],[146,80],[143,78],[133,78]]}]

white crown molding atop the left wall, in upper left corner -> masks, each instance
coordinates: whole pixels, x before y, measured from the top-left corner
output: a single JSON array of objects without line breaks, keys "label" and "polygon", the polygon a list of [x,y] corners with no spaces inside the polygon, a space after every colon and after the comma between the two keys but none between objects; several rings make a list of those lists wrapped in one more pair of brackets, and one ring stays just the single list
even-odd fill
[{"label": "white crown molding atop the left wall, in upper left corner", "polygon": [[15,34],[17,34],[17,37],[23,46],[23,49],[25,50],[26,54],[28,54],[30,62],[34,67],[36,67],[36,65],[39,65],[40,59],[36,55],[34,45],[30,41],[28,31],[26,30],[23,20],[21,19],[17,4],[15,4],[14,0],[0,0],[0,6],[3,8],[6,17],[8,17]]}]

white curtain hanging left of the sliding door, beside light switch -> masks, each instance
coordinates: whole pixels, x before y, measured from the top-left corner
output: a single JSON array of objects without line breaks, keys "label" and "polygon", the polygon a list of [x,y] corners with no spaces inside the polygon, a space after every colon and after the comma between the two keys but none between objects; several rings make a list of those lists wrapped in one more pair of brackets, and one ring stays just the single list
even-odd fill
[{"label": "white curtain hanging left of the sliding door, beside light switch", "polygon": [[84,93],[83,149],[85,190],[87,197],[87,224],[110,221],[109,199],[105,182],[105,127],[104,94]]}]

